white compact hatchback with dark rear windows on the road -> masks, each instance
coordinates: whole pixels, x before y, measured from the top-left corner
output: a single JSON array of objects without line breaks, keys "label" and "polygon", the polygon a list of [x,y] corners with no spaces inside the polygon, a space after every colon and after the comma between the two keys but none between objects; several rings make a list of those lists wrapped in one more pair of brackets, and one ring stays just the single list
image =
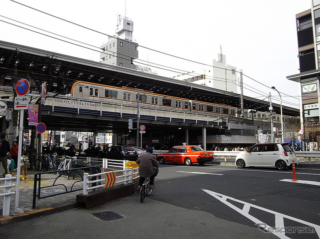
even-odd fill
[{"label": "white compact hatchback with dark rear windows on the road", "polygon": [[297,158],[288,143],[255,144],[248,151],[237,154],[235,164],[238,168],[250,167],[276,167],[285,170],[296,164]]}]

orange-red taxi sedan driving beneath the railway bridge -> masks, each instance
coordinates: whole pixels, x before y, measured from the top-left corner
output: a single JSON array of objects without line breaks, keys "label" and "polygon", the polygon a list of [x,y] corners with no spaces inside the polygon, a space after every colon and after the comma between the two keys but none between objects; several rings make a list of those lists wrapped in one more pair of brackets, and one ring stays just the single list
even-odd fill
[{"label": "orange-red taxi sedan driving beneath the railway bridge", "polygon": [[158,154],[156,160],[159,161],[160,164],[184,163],[190,166],[192,163],[198,163],[202,166],[205,162],[213,160],[213,153],[203,151],[203,149],[197,145],[182,145],[174,146],[168,152]]}]

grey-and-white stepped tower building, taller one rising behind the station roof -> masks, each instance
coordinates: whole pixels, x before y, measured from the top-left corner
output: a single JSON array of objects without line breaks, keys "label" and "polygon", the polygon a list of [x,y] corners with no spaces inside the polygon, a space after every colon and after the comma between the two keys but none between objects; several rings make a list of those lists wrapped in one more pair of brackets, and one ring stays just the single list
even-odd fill
[{"label": "grey-and-white stepped tower building, taller one rising behind the station roof", "polygon": [[138,43],[132,41],[133,21],[118,15],[115,33],[117,36],[108,37],[108,41],[100,48],[100,61],[110,65],[136,69],[133,60],[138,57]]}]

